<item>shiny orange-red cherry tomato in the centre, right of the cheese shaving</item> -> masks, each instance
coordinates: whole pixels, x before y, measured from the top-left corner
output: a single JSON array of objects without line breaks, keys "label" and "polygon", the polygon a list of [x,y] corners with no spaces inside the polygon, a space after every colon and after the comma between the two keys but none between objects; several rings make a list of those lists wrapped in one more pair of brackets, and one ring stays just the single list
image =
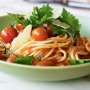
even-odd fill
[{"label": "shiny orange-red cherry tomato in the centre, right of the cheese shaving", "polygon": [[44,28],[37,28],[32,31],[32,38],[36,41],[43,41],[48,39],[48,33]]}]

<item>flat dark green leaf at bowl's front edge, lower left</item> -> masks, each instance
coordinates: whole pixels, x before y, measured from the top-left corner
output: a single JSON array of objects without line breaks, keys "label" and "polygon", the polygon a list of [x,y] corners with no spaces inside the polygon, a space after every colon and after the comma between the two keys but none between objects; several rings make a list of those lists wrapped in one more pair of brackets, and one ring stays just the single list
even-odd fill
[{"label": "flat dark green leaf at bowl's front edge, lower left", "polygon": [[20,56],[16,60],[13,61],[13,63],[18,63],[18,64],[25,64],[25,65],[31,65],[32,60],[34,59],[34,56]]}]

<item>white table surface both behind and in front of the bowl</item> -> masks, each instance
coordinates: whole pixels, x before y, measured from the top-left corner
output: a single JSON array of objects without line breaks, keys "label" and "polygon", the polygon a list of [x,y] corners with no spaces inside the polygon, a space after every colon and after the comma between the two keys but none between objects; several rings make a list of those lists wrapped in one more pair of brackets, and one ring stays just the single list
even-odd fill
[{"label": "white table surface both behind and in front of the bowl", "polygon": [[[40,6],[41,4],[31,4],[22,0],[0,0],[0,16],[9,13],[23,13],[32,10],[34,5]],[[52,7],[55,5],[52,4]],[[65,6],[57,5],[58,8]],[[68,8],[70,12],[90,17],[90,10]],[[21,80],[7,74],[0,72],[0,90],[90,90],[90,76],[78,78],[68,81],[58,82],[38,82]]]}]

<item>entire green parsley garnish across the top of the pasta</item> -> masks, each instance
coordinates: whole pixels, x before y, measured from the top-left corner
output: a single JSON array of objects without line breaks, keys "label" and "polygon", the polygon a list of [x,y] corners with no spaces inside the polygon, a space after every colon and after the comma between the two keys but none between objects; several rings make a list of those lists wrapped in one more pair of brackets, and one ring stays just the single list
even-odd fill
[{"label": "entire green parsley garnish across the top of the pasta", "polygon": [[78,19],[68,12],[65,8],[61,12],[58,18],[52,18],[53,8],[47,5],[43,5],[41,8],[34,7],[31,16],[28,19],[24,18],[24,15],[10,14],[14,18],[16,23],[24,24],[25,26],[32,24],[33,28],[42,26],[44,23],[52,25],[53,35],[69,34],[72,38],[80,35],[80,24]]}]

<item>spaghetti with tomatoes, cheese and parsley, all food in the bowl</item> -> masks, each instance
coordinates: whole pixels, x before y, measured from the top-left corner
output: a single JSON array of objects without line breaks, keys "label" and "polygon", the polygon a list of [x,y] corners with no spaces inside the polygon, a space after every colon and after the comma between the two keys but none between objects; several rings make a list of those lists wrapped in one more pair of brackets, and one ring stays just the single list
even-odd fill
[{"label": "spaghetti with tomatoes, cheese and parsley, all food in the bowl", "polygon": [[8,14],[15,22],[0,32],[0,59],[34,66],[90,63],[90,39],[80,36],[78,19],[65,8],[57,18],[48,4],[29,17]]}]

